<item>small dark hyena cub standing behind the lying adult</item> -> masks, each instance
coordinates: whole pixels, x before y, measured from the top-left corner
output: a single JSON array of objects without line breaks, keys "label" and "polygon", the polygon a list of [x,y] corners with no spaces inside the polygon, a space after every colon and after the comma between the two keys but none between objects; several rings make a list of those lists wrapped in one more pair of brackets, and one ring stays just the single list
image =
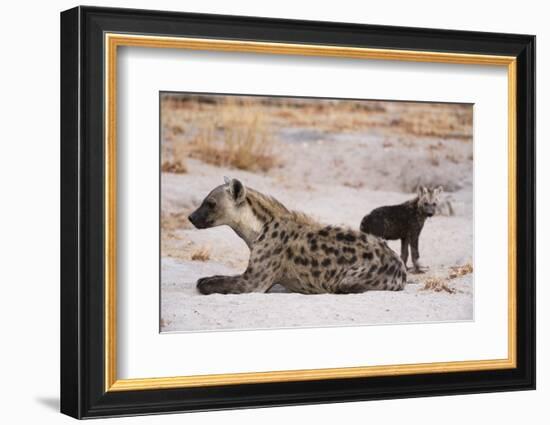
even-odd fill
[{"label": "small dark hyena cub standing behind the lying adult", "polygon": [[417,197],[399,205],[376,208],[363,217],[360,229],[384,239],[401,239],[401,259],[407,265],[409,246],[415,273],[422,273],[418,262],[418,238],[426,218],[435,214],[442,187],[418,188]]}]

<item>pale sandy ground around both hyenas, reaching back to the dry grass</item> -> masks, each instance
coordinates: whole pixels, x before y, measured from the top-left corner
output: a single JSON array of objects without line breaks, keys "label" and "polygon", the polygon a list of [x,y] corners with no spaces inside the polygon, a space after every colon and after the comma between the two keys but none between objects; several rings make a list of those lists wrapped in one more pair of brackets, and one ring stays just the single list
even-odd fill
[{"label": "pale sandy ground around both hyenas, reaching back to the dry grass", "polygon": [[[279,130],[280,167],[253,173],[186,161],[187,173],[162,173],[161,329],[204,331],[352,326],[473,319],[473,275],[448,279],[453,266],[472,263],[471,141],[392,137],[383,130],[327,134]],[[338,149],[335,149],[335,146]],[[436,156],[434,157],[434,152]],[[301,295],[275,287],[267,294],[200,295],[196,281],[244,271],[249,251],[227,227],[196,230],[186,216],[228,175],[269,193],[288,208],[327,224],[358,228],[375,207],[413,197],[416,184],[443,184],[453,214],[427,220],[420,238],[427,273],[409,274],[404,291]],[[451,193],[452,191],[452,193]],[[400,242],[390,241],[399,252]],[[193,261],[198,250],[206,261]],[[410,260],[409,260],[410,261]],[[452,293],[425,289],[443,279]]]}]

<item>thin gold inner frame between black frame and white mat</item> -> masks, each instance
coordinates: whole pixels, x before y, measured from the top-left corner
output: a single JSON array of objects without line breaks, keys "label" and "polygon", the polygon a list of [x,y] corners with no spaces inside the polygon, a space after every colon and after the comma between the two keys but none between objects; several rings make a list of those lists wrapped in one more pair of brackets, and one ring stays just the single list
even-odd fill
[{"label": "thin gold inner frame between black frame and white mat", "polygon": [[[370,49],[327,45],[105,34],[105,391],[236,385],[445,373],[516,367],[516,58],[513,56]],[[116,373],[116,100],[119,46],[329,56],[507,67],[508,71],[508,357],[495,360],[303,369],[163,378],[118,379]]]}]

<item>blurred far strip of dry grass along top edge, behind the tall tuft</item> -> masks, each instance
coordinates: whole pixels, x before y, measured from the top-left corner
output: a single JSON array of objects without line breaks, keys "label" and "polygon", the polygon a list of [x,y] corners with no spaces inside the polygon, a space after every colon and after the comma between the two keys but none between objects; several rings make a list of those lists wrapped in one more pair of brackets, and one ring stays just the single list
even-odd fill
[{"label": "blurred far strip of dry grass along top edge, behind the tall tuft", "polygon": [[[391,127],[393,133],[404,135],[459,139],[472,137],[470,105],[328,99],[313,101],[277,97],[166,95],[162,100],[163,126],[170,128],[175,136],[187,134],[182,116],[211,121],[223,113],[220,110],[227,109],[228,103],[237,107],[240,116],[248,114],[250,110],[261,113],[265,124],[272,128],[307,127],[326,133],[342,133]],[[166,111],[172,116],[165,119]]]}]

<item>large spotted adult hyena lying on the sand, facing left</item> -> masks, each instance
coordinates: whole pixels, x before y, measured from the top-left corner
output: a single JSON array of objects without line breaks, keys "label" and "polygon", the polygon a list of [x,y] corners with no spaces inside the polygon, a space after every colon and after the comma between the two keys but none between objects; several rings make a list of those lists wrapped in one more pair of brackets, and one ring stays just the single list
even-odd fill
[{"label": "large spotted adult hyena lying on the sand, facing left", "polygon": [[319,224],[236,179],[212,190],[189,221],[198,229],[228,225],[250,248],[243,274],[199,279],[202,294],[267,292],[276,283],[302,294],[405,286],[405,266],[382,239]]}]

